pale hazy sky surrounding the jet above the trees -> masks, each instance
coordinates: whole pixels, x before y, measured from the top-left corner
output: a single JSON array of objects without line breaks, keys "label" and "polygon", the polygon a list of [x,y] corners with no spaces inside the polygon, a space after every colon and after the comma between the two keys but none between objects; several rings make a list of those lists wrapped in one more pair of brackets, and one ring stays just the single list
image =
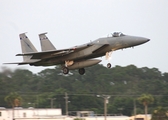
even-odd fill
[{"label": "pale hazy sky surrounding the jet above the trees", "polygon": [[[112,53],[112,66],[158,68],[168,72],[168,0],[0,0],[0,67],[22,61],[19,34],[41,51],[38,34],[57,49],[80,45],[121,31],[151,39],[143,45]],[[106,65],[105,58],[101,64]],[[46,67],[21,66],[32,72]]]}]

